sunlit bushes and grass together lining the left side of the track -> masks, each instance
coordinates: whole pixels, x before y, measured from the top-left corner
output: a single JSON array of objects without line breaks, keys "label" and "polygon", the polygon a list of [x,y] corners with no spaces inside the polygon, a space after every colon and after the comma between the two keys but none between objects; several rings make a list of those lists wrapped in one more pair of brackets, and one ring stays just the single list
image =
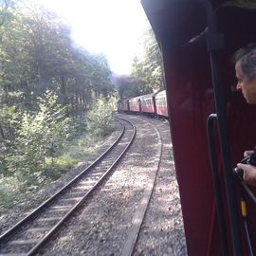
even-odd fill
[{"label": "sunlit bushes and grass together lining the left side of the track", "polygon": [[76,120],[74,136],[70,137],[70,119],[56,100],[47,92],[45,99],[40,99],[39,111],[23,116],[14,146],[5,159],[9,172],[0,174],[0,212],[59,178],[83,162],[86,155],[95,154],[98,146],[92,141],[100,145],[101,137],[112,131],[115,102],[103,98],[97,101],[86,119],[90,133],[85,135],[83,120]]}]

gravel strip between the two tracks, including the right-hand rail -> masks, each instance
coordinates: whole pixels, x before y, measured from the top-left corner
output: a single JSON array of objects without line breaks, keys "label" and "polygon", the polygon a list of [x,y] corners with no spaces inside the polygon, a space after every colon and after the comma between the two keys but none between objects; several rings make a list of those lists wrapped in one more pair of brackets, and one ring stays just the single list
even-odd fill
[{"label": "gravel strip between the two tracks, including the right-hand rail", "polygon": [[131,151],[104,184],[104,192],[95,194],[90,208],[72,219],[43,255],[133,255],[161,161],[162,139],[151,121],[123,118],[137,125]]}]

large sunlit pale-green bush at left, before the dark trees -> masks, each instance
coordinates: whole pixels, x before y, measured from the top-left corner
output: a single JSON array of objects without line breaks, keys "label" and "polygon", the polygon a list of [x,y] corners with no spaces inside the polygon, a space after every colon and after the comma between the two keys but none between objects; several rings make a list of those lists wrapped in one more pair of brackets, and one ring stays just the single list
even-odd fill
[{"label": "large sunlit pale-green bush at left, before the dark trees", "polygon": [[38,113],[24,114],[13,151],[6,158],[10,173],[22,174],[20,177],[42,172],[46,157],[53,164],[69,134],[70,119],[66,118],[66,108],[57,103],[57,97],[46,91],[39,101]]}]

